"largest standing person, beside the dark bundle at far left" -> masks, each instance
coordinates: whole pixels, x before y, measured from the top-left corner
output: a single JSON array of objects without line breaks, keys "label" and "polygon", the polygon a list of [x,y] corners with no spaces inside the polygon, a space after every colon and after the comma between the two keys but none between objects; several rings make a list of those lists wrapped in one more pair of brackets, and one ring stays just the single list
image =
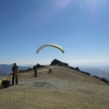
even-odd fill
[{"label": "largest standing person, beside the dark bundle at far left", "polygon": [[17,85],[17,73],[19,73],[19,66],[16,65],[16,63],[13,64],[12,66],[12,85],[14,85],[14,80],[15,80],[15,84]]}]

